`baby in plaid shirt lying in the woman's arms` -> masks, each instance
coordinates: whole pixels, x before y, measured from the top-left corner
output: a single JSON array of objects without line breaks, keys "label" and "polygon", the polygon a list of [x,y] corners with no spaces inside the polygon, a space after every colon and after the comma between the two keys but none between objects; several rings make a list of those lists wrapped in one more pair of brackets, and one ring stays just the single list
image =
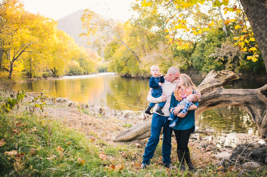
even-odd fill
[{"label": "baby in plaid shirt lying in the woman's arms", "polygon": [[[193,105],[193,103],[196,103],[196,102],[198,102],[198,96],[196,94],[191,94],[191,95],[188,95],[186,98],[184,98],[177,106],[185,105],[185,108],[182,111],[182,114],[185,114],[187,113],[188,108],[191,105]],[[172,111],[171,116],[168,118],[168,120],[173,120],[173,123],[170,125],[170,127],[174,127],[178,121],[178,117],[174,116],[173,111]]]}]

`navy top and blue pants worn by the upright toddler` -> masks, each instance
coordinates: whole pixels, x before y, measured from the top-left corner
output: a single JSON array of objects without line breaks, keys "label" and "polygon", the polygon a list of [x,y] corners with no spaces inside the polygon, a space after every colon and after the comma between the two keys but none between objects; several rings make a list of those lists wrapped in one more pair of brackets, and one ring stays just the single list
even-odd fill
[{"label": "navy top and blue pants worn by the upright toddler", "polygon": [[[149,80],[149,87],[152,88],[151,89],[151,95],[152,97],[154,98],[158,98],[162,95],[162,87],[158,85],[158,83],[161,82],[161,83],[164,83],[165,82],[165,79],[163,76],[160,76],[160,77],[150,77],[150,80]],[[164,107],[166,101],[164,102],[161,102],[159,103],[158,105],[159,106],[162,106]],[[156,103],[150,103],[149,106],[151,108],[153,108],[155,106]]]}]

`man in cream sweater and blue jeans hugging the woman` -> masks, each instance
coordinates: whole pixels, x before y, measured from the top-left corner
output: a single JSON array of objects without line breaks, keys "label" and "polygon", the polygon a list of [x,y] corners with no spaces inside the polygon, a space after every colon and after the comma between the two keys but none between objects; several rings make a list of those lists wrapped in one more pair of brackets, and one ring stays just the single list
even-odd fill
[{"label": "man in cream sweater and blue jeans hugging the woman", "polygon": [[[150,164],[150,159],[154,156],[155,149],[159,142],[160,132],[163,127],[163,143],[162,143],[162,157],[163,164],[165,167],[174,169],[171,165],[171,134],[172,129],[170,128],[170,120],[168,120],[170,116],[170,103],[171,103],[171,95],[173,94],[174,89],[177,87],[176,80],[178,79],[180,71],[177,67],[172,66],[169,68],[166,76],[164,77],[165,82],[162,83],[163,94],[159,98],[154,98],[151,95],[151,91],[147,95],[147,101],[151,103],[160,103],[166,101],[166,104],[162,108],[162,112],[164,115],[160,115],[156,113],[156,108],[158,105],[156,104],[153,108],[153,117],[151,123],[151,135],[147,142],[147,146],[145,147],[145,152],[143,155],[143,162],[141,168],[146,168],[147,165]],[[198,97],[201,94],[197,93]],[[184,117],[186,114],[179,113],[178,117]]]}]

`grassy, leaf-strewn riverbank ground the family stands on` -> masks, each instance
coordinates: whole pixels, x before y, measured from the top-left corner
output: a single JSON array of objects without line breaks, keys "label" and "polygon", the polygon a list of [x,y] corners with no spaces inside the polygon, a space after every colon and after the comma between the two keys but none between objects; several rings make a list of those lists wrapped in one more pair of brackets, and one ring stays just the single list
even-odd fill
[{"label": "grassy, leaf-strewn riverbank ground the family stands on", "polygon": [[[3,103],[9,94],[9,91],[0,90],[0,102]],[[19,109],[15,107],[9,113],[0,113],[0,176],[215,177],[237,176],[239,173],[227,168],[217,170],[219,161],[215,160],[214,155],[220,152],[219,148],[208,140],[199,139],[190,139],[189,142],[196,172],[179,171],[174,138],[171,161],[176,169],[168,170],[162,163],[162,136],[152,163],[146,170],[141,170],[148,138],[134,142],[112,141],[114,136],[127,128],[117,126],[122,123],[120,118],[128,115],[128,119],[134,122],[131,115],[118,111],[113,111],[113,114],[108,111],[99,113],[98,108],[82,108],[73,104],[70,107],[64,101],[45,105],[44,113],[39,109],[30,112],[31,105],[27,103],[33,97],[34,94],[26,94]],[[199,148],[207,144],[210,151]],[[266,175],[266,168],[263,167],[243,174]]]}]

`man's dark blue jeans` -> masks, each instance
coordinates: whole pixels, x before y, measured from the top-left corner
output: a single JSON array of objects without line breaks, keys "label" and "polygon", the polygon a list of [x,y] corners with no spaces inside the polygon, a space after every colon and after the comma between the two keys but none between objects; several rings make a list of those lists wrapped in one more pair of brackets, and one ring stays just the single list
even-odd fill
[{"label": "man's dark blue jeans", "polygon": [[143,164],[148,165],[150,159],[154,156],[155,149],[159,142],[159,136],[161,128],[163,127],[163,142],[162,142],[162,157],[163,163],[171,163],[171,134],[172,129],[169,126],[169,117],[161,116],[159,114],[153,113],[152,123],[151,123],[151,135],[148,139],[147,146],[143,155]]}]

